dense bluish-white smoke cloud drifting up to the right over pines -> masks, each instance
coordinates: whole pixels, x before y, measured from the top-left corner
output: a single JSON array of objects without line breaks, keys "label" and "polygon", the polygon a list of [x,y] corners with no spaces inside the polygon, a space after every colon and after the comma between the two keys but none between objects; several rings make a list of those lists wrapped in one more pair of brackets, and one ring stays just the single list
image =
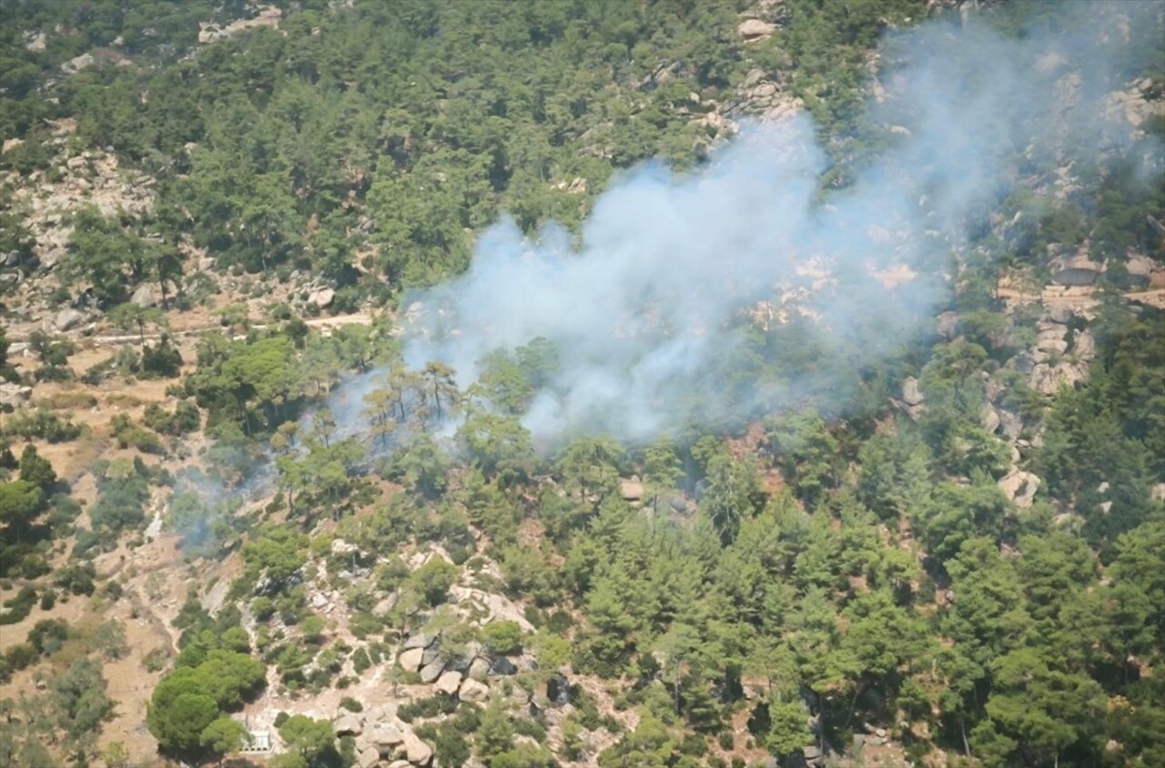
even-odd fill
[{"label": "dense bluish-white smoke cloud drifting up to the right over pines", "polygon": [[[814,318],[824,354],[845,355],[834,365],[876,359],[930,322],[952,255],[1025,175],[1134,146],[1103,94],[1124,86],[1130,35],[1160,28],[1163,5],[1060,6],[1021,38],[940,20],[887,41],[884,97],[869,110],[888,147],[824,202],[826,154],[802,115],[746,125],[689,175],[631,170],[599,198],[580,242],[553,224],[527,239],[501,220],[466,274],[403,304],[421,308],[407,362],[444,361],[464,386],[487,353],[550,340],[562,369],[523,418],[542,443],[642,442],[675,429],[693,397],[718,422],[828,387],[735,387],[725,402],[713,372],[748,312],[758,324]],[[799,301],[783,305],[790,296]]]}]

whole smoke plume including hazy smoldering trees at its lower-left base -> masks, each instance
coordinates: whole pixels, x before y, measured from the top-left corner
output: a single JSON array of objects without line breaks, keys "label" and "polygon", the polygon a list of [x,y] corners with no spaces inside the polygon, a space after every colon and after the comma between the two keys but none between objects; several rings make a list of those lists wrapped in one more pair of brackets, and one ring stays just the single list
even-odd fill
[{"label": "whole smoke plume including hazy smoldering trees at its lower-left base", "polygon": [[[549,453],[800,406],[876,410],[961,272],[1007,249],[993,235],[1004,200],[1079,192],[1113,158],[1159,183],[1159,142],[1108,94],[1156,50],[1162,3],[1044,9],[1018,35],[953,14],[889,33],[862,135],[824,138],[807,111],[743,122],[687,171],[626,171],[577,233],[502,218],[465,274],[403,297],[402,359],[333,387],[326,435],[304,417],[283,453],[351,441],[383,458],[421,431],[461,430],[447,444],[465,448],[481,414],[517,420]],[[276,482],[268,458],[246,488]],[[225,498],[209,484],[185,484],[203,508]]]}]

